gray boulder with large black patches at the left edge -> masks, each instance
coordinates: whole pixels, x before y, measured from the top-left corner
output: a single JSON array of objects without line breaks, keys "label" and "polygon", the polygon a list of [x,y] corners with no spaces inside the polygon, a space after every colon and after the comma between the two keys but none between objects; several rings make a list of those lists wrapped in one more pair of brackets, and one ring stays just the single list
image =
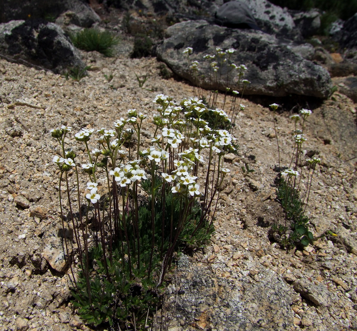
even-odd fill
[{"label": "gray boulder with large black patches at the left edge", "polygon": [[18,20],[0,24],[0,55],[6,60],[64,73],[84,68],[77,48],[56,24]]}]

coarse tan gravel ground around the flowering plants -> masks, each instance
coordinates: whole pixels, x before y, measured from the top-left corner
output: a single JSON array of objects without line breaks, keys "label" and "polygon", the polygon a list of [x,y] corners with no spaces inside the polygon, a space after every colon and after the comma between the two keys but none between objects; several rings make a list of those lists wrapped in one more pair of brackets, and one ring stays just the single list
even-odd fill
[{"label": "coarse tan gravel ground around the flowering plants", "polygon": [[[128,109],[152,115],[156,94],[180,100],[193,93],[185,82],[162,79],[155,58],[127,55],[105,58],[83,52],[92,68],[79,82],[0,60],[1,331],[87,329],[69,304],[67,274],[51,269],[42,254],[44,233],[59,220],[59,179],[52,164],[58,152],[49,131],[62,124],[72,126],[74,133],[83,127],[110,127]],[[110,73],[114,78],[108,83],[104,74]],[[144,88],[135,73],[148,74]],[[216,233],[210,245],[189,258],[191,268],[205,265],[212,275],[232,283],[247,275],[258,281],[270,270],[280,275],[292,290],[292,330],[357,330],[356,159],[346,161],[356,156],[357,146],[356,140],[341,140],[339,132],[331,131],[336,118],[355,125],[356,109],[344,95],[334,96],[313,109],[307,123],[305,153],[318,155],[321,165],[306,211],[314,236],[326,230],[338,236],[289,252],[270,242],[268,230],[283,216],[273,186],[278,157],[272,112],[243,99],[246,109],[233,130],[238,153],[225,158],[231,176],[220,195]],[[335,114],[333,123],[326,112]],[[282,165],[290,162],[292,152],[290,115],[277,115]],[[337,123],[335,130],[339,127],[343,125]],[[150,120],[143,130],[148,137],[152,134]],[[74,139],[67,142],[76,145]],[[245,163],[254,172],[243,175]],[[325,295],[311,302],[298,289],[299,281],[321,285]],[[331,302],[325,305],[324,300]],[[170,327],[195,329],[175,318]]]}]

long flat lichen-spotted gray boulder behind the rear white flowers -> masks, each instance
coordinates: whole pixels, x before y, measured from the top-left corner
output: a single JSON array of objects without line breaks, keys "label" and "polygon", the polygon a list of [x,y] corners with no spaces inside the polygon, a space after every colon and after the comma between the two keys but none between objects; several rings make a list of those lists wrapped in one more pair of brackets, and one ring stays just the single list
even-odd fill
[{"label": "long flat lichen-spotted gray boulder behind the rear white flowers", "polygon": [[[204,60],[206,62],[203,63],[203,56],[214,54],[216,47],[221,47],[223,50],[237,50],[231,55],[230,63],[247,66],[244,78],[251,84],[246,86],[245,94],[276,97],[298,94],[318,98],[327,98],[330,94],[332,83],[326,69],[290,50],[288,47],[294,47],[293,43],[267,33],[229,29],[198,20],[177,23],[167,29],[166,36],[157,47],[158,58],[179,76],[193,81],[187,55],[182,54],[186,47],[192,47],[190,61],[200,62],[198,73],[199,76],[204,75],[200,83],[203,88],[217,89],[216,84],[210,81],[209,62]],[[227,64],[223,64],[222,77],[226,77],[228,68]],[[221,79],[218,89],[226,90],[225,81],[226,78]],[[242,91],[236,75],[230,75],[228,86]]]}]

